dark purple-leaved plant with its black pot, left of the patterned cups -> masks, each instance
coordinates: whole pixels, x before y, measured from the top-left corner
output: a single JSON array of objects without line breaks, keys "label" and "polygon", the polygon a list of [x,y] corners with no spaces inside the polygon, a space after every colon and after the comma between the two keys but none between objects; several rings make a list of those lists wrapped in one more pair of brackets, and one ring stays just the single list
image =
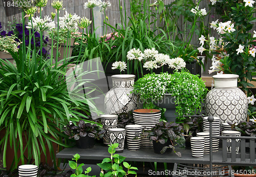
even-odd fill
[{"label": "dark purple-leaved plant with its black pot, left of the patterned cups", "polygon": [[79,120],[77,125],[69,124],[64,131],[70,139],[74,138],[78,148],[93,148],[95,139],[100,140],[104,137],[105,130],[97,124],[86,123]]}]

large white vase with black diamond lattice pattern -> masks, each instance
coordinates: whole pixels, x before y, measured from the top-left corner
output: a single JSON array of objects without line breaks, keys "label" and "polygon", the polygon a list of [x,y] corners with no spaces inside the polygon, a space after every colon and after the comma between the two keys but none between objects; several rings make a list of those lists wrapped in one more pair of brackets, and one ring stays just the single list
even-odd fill
[{"label": "large white vase with black diamond lattice pattern", "polygon": [[135,75],[122,74],[111,76],[113,88],[106,93],[105,110],[106,114],[128,113],[131,110],[142,108],[139,98],[133,91]]}]

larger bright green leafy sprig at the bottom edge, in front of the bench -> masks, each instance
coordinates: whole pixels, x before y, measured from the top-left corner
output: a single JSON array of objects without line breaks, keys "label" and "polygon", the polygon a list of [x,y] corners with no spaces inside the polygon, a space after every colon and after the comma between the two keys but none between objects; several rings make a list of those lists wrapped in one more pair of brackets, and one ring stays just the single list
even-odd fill
[{"label": "larger bright green leafy sprig at the bottom edge, in front of the bench", "polygon": [[[124,162],[125,157],[120,156],[119,154],[114,154],[116,152],[115,148],[118,147],[118,143],[109,145],[109,153],[110,158],[105,158],[103,161],[99,164],[97,164],[102,170],[105,170],[106,173],[103,174],[100,173],[100,176],[127,176],[129,174],[136,174],[136,171],[138,168],[132,167],[129,163]],[[127,171],[125,172],[123,170],[122,165],[127,168]]]}]

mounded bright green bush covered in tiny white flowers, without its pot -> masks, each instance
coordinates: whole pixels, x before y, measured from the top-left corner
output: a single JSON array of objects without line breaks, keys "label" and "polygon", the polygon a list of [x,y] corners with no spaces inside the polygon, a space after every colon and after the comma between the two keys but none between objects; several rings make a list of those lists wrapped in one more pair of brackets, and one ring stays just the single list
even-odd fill
[{"label": "mounded bright green bush covered in tiny white flowers, without its pot", "polygon": [[184,115],[194,115],[195,110],[201,110],[207,89],[201,78],[183,70],[174,74],[147,74],[135,82],[134,93],[149,104],[162,99],[166,93],[173,94],[176,113],[183,120]]}]

